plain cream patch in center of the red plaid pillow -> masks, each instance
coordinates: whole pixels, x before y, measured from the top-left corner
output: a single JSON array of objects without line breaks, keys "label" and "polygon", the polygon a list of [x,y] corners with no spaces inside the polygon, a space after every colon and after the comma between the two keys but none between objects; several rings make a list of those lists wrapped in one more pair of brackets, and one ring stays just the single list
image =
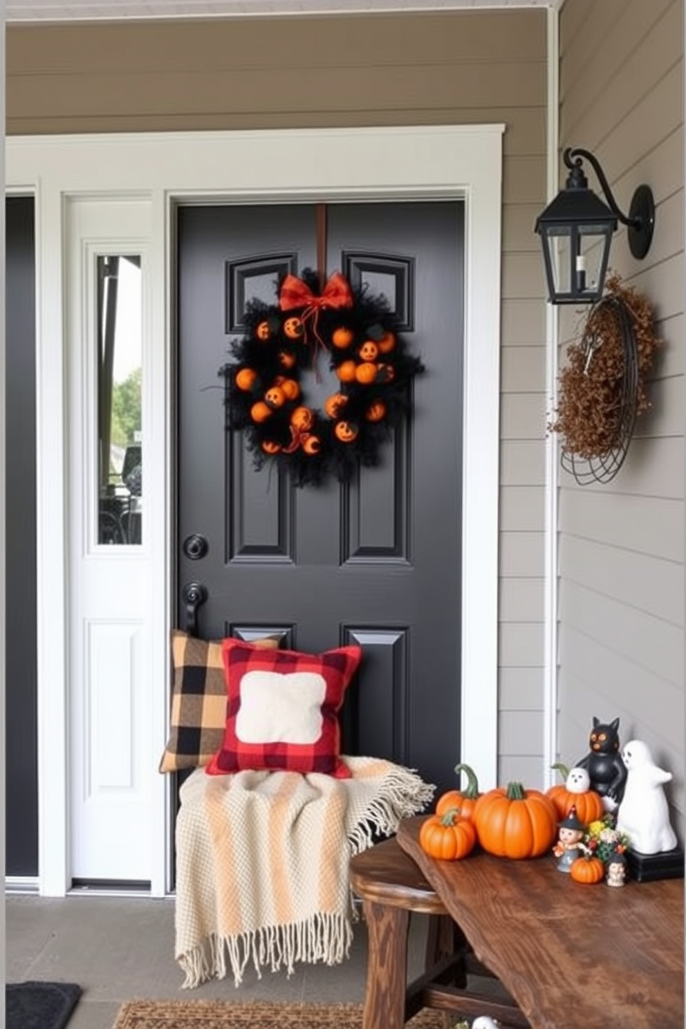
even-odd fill
[{"label": "plain cream patch in center of the red plaid pillow", "polygon": [[326,681],[316,672],[246,672],[236,735],[242,743],[311,745],[322,735]]}]

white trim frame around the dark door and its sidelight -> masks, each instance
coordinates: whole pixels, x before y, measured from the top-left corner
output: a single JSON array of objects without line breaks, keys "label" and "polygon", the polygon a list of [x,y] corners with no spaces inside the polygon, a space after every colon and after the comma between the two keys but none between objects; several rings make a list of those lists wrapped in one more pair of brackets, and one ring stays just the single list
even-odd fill
[{"label": "white trim frame around the dark door and its sidelight", "polygon": [[[13,137],[6,181],[36,198],[39,886],[61,896],[69,858],[70,511],[65,212],[71,198],[151,205],[146,527],[155,715],[149,741],[151,893],[169,889],[167,738],[172,590],[174,209],[179,203],[455,200],[465,204],[460,755],[497,784],[498,495],[503,125]],[[274,153],[280,159],[274,161]],[[456,729],[457,731],[457,729]],[[456,746],[456,753],[457,753]]]}]

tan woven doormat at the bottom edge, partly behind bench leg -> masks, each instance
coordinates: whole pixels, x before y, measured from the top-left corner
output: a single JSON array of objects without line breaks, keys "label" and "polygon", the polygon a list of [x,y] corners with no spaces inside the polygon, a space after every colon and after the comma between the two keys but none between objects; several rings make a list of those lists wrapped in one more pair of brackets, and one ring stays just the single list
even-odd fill
[{"label": "tan woven doormat at the bottom edge, partly behind bench leg", "polygon": [[[425,1008],[406,1029],[444,1029],[443,1014]],[[134,1000],[112,1029],[362,1029],[362,1005]]]}]

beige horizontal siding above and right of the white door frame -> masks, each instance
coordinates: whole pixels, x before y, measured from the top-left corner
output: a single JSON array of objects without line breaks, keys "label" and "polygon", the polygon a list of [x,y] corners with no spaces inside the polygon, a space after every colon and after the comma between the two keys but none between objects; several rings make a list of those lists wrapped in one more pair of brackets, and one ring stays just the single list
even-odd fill
[{"label": "beige horizontal siding above and right of the white door frame", "polygon": [[536,785],[546,412],[533,226],[546,201],[546,20],[463,11],[7,31],[9,134],[506,125],[499,772]]}]

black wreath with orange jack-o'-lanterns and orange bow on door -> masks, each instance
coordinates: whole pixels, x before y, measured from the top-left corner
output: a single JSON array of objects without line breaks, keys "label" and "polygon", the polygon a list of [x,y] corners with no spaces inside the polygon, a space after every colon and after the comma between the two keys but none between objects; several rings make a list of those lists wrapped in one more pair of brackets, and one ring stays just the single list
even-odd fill
[{"label": "black wreath with orange jack-o'-lanterns and orange bow on door", "polygon": [[[286,466],[295,486],[350,478],[378,462],[380,448],[406,415],[422,362],[407,350],[384,297],[354,290],[334,272],[319,288],[311,269],[286,275],[275,305],[253,300],[234,360],[220,369],[227,424],[243,430],[255,467]],[[335,375],[324,410],[308,400],[303,374],[320,360]]]}]

